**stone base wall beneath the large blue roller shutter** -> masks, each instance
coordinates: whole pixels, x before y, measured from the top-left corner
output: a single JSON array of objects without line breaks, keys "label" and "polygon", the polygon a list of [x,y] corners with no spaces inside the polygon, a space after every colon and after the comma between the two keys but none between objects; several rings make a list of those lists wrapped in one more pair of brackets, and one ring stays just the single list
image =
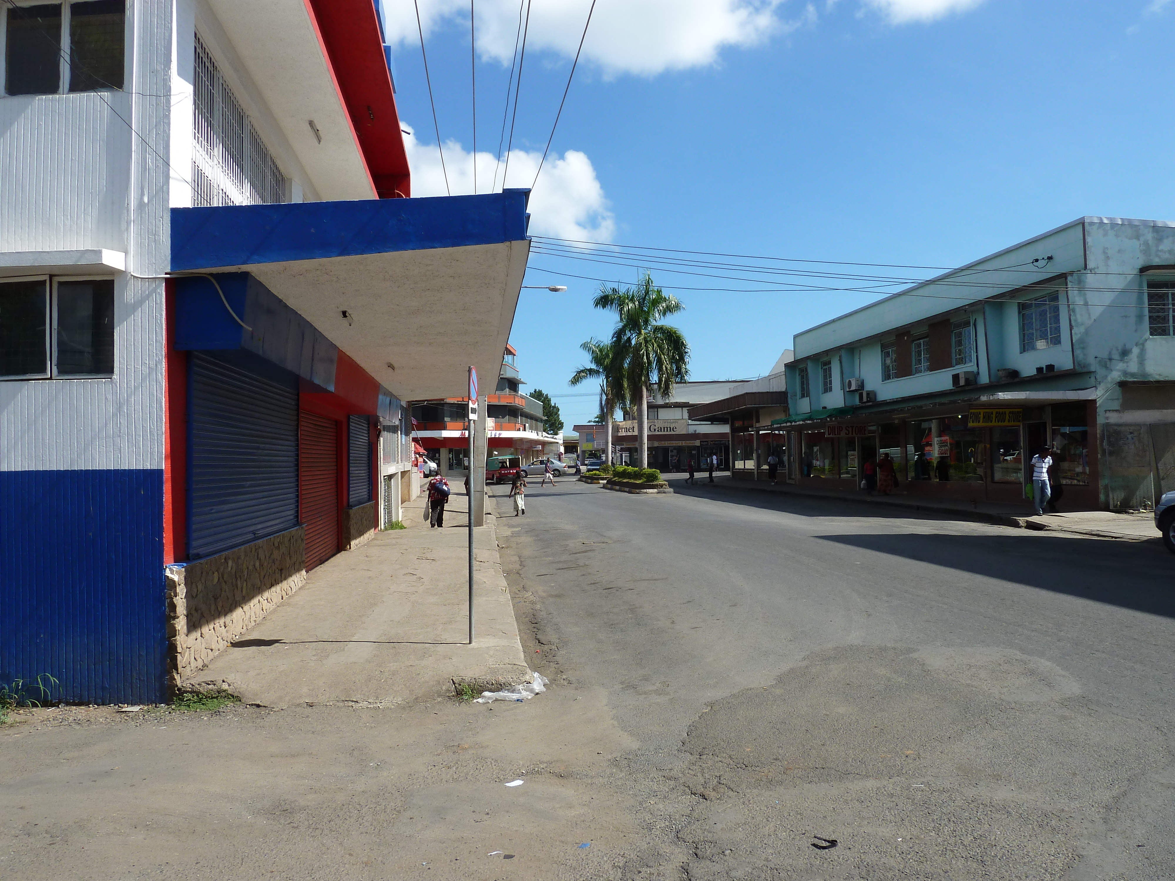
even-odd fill
[{"label": "stone base wall beneath the large blue roller shutter", "polygon": [[168,687],[201,670],[306,583],[302,526],[167,567]]}]

